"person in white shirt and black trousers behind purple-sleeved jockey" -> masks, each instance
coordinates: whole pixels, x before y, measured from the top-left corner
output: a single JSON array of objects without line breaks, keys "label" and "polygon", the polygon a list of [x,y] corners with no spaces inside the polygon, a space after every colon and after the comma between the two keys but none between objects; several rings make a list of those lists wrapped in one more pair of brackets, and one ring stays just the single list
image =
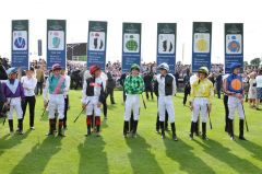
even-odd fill
[{"label": "person in white shirt and black trousers behind purple-sleeved jockey", "polygon": [[37,79],[34,77],[35,69],[31,67],[28,70],[26,70],[26,76],[21,78],[21,83],[24,88],[24,95],[25,100],[22,103],[22,109],[23,109],[23,120],[26,112],[26,106],[29,104],[29,127],[31,130],[34,130],[34,119],[35,119],[35,88],[37,84]]}]

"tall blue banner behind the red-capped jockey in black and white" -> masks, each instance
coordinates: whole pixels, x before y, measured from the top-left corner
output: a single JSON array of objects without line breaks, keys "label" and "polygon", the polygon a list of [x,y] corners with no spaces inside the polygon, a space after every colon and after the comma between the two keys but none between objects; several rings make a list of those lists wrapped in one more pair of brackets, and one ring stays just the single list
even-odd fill
[{"label": "tall blue banner behind the red-capped jockey in black and white", "polygon": [[107,22],[90,21],[87,44],[87,67],[97,65],[105,70]]}]

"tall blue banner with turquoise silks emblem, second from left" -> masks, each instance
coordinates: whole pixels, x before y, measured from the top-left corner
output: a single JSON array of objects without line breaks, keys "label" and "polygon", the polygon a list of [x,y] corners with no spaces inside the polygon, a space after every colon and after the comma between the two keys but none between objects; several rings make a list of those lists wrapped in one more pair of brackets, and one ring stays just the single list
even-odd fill
[{"label": "tall blue banner with turquoise silks emblem, second from left", "polygon": [[47,20],[47,69],[60,63],[66,69],[66,20]]}]

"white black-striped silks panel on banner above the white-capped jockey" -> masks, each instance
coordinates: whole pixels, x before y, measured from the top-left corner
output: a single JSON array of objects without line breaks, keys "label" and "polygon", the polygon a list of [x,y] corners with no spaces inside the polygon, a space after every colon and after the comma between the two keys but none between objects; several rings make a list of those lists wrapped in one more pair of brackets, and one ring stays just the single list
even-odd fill
[{"label": "white black-striped silks panel on banner above the white-capped jockey", "polygon": [[175,54],[175,34],[158,35],[158,54]]}]

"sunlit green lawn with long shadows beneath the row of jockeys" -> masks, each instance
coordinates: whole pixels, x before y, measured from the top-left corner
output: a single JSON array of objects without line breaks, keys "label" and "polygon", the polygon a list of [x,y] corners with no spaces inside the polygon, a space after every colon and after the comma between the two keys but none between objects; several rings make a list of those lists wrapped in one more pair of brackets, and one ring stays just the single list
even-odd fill
[{"label": "sunlit green lawn with long shadows beneath the row of jockeys", "polygon": [[[9,136],[8,124],[0,127],[0,174],[76,174],[76,173],[262,173],[262,112],[246,113],[250,132],[249,141],[230,141],[224,131],[224,108],[222,100],[214,100],[212,123],[207,124],[209,141],[201,138],[189,140],[191,113],[182,105],[182,94],[174,97],[176,126],[179,141],[167,135],[165,140],[155,134],[156,102],[146,102],[141,108],[139,136],[135,139],[122,137],[123,104],[121,92],[116,92],[117,105],[109,103],[108,119],[103,121],[102,137],[84,137],[85,116],[73,124],[81,111],[80,91],[70,92],[70,111],[66,138],[46,137],[47,117],[40,118],[43,98],[37,97],[36,130],[28,129],[26,114],[23,136]],[[142,104],[142,103],[141,103]],[[141,105],[142,106],[142,105]],[[235,134],[238,135],[238,118]],[[16,125],[16,121],[15,121]]]}]

